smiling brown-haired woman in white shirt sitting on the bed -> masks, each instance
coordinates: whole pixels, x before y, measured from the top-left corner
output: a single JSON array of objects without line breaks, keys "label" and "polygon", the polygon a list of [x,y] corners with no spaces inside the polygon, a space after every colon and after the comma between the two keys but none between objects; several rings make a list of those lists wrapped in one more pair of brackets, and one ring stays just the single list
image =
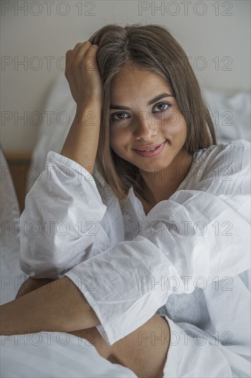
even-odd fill
[{"label": "smiling brown-haired woman in white shirt sitting on the bed", "polygon": [[65,75],[76,116],[27,194],[2,332],[92,331],[139,377],[248,377],[250,143],[217,144],[165,27],[101,27]]}]

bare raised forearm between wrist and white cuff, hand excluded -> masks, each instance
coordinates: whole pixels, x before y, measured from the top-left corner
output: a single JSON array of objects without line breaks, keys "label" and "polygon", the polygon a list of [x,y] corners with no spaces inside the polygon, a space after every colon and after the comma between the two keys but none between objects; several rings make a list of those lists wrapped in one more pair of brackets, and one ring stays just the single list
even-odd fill
[{"label": "bare raised forearm between wrist and white cuff, hand excluded", "polygon": [[90,100],[78,107],[61,151],[61,155],[74,160],[91,175],[97,155],[100,122],[101,104],[98,101]]}]

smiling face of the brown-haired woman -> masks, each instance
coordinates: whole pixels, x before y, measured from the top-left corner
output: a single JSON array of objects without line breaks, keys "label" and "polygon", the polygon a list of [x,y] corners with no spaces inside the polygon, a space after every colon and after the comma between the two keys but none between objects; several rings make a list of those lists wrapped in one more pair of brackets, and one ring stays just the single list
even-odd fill
[{"label": "smiling face of the brown-haired woman", "polygon": [[[135,66],[119,71],[110,89],[110,146],[117,155],[141,170],[160,170],[182,160],[186,137],[174,91],[162,76]],[[153,153],[137,152],[159,144]]]}]

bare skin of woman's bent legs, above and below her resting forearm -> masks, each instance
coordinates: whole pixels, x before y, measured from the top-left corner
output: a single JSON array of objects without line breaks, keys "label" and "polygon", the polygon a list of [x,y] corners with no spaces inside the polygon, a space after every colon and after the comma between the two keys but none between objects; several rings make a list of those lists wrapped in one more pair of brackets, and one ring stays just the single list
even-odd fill
[{"label": "bare skin of woman's bent legs, above and below her resting forearm", "polygon": [[[53,280],[49,278],[28,278],[16,295],[17,298],[39,289]],[[113,364],[130,368],[138,377],[162,378],[167,359],[170,331],[169,324],[159,315],[154,315],[136,331],[109,346],[96,327],[69,332],[88,340],[101,357]]]}]

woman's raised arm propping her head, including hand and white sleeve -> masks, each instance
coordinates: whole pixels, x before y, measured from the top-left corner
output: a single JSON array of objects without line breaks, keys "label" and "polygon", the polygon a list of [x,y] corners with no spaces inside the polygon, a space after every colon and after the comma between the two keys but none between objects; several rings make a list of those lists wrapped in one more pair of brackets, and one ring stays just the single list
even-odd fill
[{"label": "woman's raised arm propping her head, including hand and white sleeve", "polygon": [[107,208],[92,177],[103,96],[96,54],[97,45],[89,42],[67,52],[65,75],[77,113],[61,155],[49,151],[25,198],[21,269],[33,278],[61,278],[110,245]]}]

